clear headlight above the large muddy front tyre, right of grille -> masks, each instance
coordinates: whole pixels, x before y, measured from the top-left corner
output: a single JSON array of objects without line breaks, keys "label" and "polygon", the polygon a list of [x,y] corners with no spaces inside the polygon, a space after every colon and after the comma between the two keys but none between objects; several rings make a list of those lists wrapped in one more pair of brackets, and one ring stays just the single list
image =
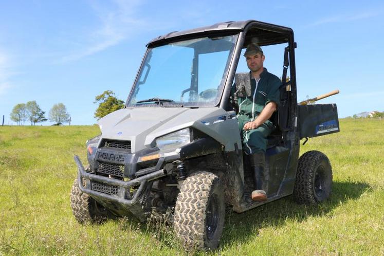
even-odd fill
[{"label": "clear headlight above the large muddy front tyre, right of grille", "polygon": [[174,151],[191,142],[189,128],[162,136],[156,139],[156,146],[160,151]]}]

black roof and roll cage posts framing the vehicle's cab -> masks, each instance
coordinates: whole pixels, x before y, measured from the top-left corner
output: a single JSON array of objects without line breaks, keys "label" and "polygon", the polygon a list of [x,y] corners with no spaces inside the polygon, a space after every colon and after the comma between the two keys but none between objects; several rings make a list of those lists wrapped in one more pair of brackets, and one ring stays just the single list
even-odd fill
[{"label": "black roof and roll cage posts framing the vehicle's cab", "polygon": [[[257,42],[260,46],[288,44],[285,48],[284,63],[282,63],[282,83],[280,93],[280,107],[278,112],[272,116],[272,121],[278,126],[279,130],[283,133],[287,131],[296,132],[297,124],[297,90],[296,90],[296,66],[295,66],[295,48],[294,32],[291,28],[273,25],[259,21],[242,21],[242,22],[224,22],[217,23],[211,26],[196,28],[185,31],[174,31],[168,34],[158,36],[147,44],[147,52],[143,57],[149,54],[149,49],[166,45],[172,42],[202,38],[205,36],[223,36],[223,35],[238,34],[237,42],[231,56],[229,69],[225,79],[224,89],[222,91],[221,99],[218,101],[217,106],[224,108],[226,111],[233,109],[230,103],[231,86],[234,81],[237,64],[241,56],[241,51],[250,42]],[[143,63],[143,62],[142,62]],[[289,66],[289,74],[287,74]],[[143,64],[135,79],[135,84],[138,82],[138,76],[143,69]],[[192,65],[192,70],[196,68]],[[289,77],[289,81],[286,78]],[[192,79],[191,79],[192,80]],[[193,82],[191,81],[191,89]],[[133,93],[131,90],[130,96]],[[128,97],[128,99],[130,98]]]}]

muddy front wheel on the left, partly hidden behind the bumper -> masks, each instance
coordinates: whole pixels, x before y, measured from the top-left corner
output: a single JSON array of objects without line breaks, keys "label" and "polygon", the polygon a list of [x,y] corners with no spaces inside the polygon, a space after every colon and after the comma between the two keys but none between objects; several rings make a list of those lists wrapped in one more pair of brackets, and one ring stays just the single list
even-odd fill
[{"label": "muddy front wheel on the left, partly hidden behind the bumper", "polygon": [[76,220],[81,224],[102,223],[107,218],[114,218],[114,215],[95,199],[81,192],[77,178],[70,192],[70,206]]}]

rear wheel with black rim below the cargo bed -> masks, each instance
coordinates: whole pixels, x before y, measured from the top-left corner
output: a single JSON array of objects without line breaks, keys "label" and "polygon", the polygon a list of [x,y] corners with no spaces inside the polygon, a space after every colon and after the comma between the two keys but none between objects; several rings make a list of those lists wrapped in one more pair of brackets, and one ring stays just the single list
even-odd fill
[{"label": "rear wheel with black rim below the cargo bed", "polygon": [[331,191],[330,160],[319,151],[304,153],[299,159],[296,173],[295,200],[302,204],[316,204],[328,198]]}]

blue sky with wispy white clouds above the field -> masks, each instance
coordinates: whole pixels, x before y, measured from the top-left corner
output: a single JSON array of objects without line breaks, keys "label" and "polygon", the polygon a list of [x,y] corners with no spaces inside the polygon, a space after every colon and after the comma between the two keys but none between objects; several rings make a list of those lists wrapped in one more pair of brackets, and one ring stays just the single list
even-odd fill
[{"label": "blue sky with wispy white clouds above the field", "polygon": [[71,124],[94,124],[95,97],[126,100],[153,38],[244,20],[294,30],[298,100],[339,89],[319,103],[340,118],[384,111],[382,1],[0,0],[0,117],[15,125],[13,106],[35,100],[46,116],[61,102]]}]

